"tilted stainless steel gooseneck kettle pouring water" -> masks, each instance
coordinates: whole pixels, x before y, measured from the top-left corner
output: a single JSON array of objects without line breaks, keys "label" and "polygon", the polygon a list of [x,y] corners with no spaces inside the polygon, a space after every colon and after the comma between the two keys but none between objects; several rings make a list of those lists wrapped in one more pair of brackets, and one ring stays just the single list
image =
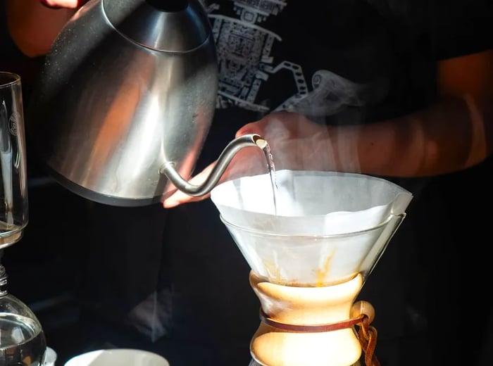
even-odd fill
[{"label": "tilted stainless steel gooseneck kettle pouring water", "polygon": [[90,0],[46,56],[27,138],[61,184],[92,201],[144,206],[175,187],[201,196],[258,135],[231,141],[189,184],[213,118],[216,47],[199,0]]}]

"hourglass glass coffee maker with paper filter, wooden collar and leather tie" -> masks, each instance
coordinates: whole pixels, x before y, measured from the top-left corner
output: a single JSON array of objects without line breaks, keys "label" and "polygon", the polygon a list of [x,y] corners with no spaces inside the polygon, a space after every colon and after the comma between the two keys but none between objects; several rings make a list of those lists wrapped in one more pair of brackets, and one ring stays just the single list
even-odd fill
[{"label": "hourglass glass coffee maker with paper filter, wooden collar and leather tie", "polygon": [[211,191],[261,302],[250,366],[354,366],[362,351],[367,366],[377,365],[375,309],[354,301],[412,194],[361,174],[275,176],[275,184],[257,175]]}]

